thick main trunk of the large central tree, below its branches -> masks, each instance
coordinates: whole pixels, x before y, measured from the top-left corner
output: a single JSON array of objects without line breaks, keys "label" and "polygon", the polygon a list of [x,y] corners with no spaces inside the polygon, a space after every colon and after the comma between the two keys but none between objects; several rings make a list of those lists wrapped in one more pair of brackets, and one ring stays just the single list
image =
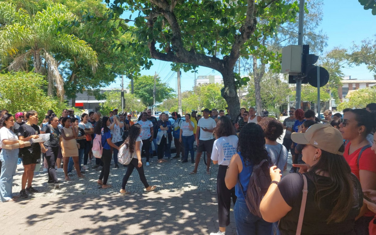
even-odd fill
[{"label": "thick main trunk of the large central tree, below its branches", "polygon": [[235,86],[233,68],[226,68],[221,74],[223,76],[224,84],[224,88],[221,89],[221,96],[226,100],[227,106],[230,109],[231,120],[235,122],[235,118],[240,112],[240,103]]}]

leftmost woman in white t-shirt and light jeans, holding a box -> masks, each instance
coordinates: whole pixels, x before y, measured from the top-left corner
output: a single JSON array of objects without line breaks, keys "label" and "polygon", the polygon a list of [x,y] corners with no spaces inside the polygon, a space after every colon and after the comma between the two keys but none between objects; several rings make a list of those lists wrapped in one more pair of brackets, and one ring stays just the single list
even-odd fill
[{"label": "leftmost woman in white t-shirt and light jeans, holding a box", "polygon": [[[14,126],[14,117],[11,114],[4,114],[0,119],[0,148],[5,144],[20,144],[25,146],[24,141],[18,140],[10,128]],[[20,149],[2,149],[0,160],[2,162],[0,174],[0,199],[2,202],[16,201],[18,196],[12,197],[13,176],[16,173],[18,151]]]}]

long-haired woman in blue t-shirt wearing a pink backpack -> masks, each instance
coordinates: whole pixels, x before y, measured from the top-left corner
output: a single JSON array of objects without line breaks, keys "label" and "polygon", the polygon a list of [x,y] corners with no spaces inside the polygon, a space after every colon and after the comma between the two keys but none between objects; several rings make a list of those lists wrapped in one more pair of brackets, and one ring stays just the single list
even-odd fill
[{"label": "long-haired woman in blue t-shirt wearing a pink backpack", "polygon": [[[110,119],[104,116],[99,119],[99,123],[94,128],[95,135],[102,135],[101,145],[103,147],[103,152],[102,152],[103,167],[102,167],[102,170],[100,171],[100,175],[99,175],[99,179],[97,183],[99,185],[102,185],[103,189],[110,188],[112,186],[111,184],[107,184],[108,176],[110,174],[110,164],[111,164],[111,159],[112,159],[111,147],[119,150],[119,147],[116,146],[111,141],[111,132],[110,132],[110,129],[108,128],[108,126],[110,125],[111,125]],[[94,135],[94,138],[95,138],[95,135]]]}]

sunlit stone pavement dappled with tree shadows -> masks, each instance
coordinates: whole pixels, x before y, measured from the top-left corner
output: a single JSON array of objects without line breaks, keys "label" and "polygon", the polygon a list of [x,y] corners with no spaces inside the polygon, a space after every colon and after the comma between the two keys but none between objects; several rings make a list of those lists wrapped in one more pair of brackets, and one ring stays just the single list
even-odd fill
[{"label": "sunlit stone pavement dappled with tree shadows", "polygon": [[[174,155],[173,155],[174,156]],[[189,175],[194,164],[171,159],[163,164],[150,159],[145,175],[156,191],[147,193],[136,170],[128,180],[130,195],[118,196],[125,167],[111,169],[108,183],[112,188],[102,190],[96,183],[99,171],[86,170],[78,179],[73,171],[71,181],[65,182],[58,173],[60,188],[47,186],[47,173],[34,176],[33,187],[39,193],[17,202],[0,203],[1,234],[209,234],[218,231],[216,177],[218,166],[205,173],[201,159],[197,174]],[[145,163],[145,159],[143,158]],[[291,159],[289,160],[290,170]],[[112,162],[111,167],[114,166]],[[18,168],[13,192],[21,188],[22,168]],[[231,209],[227,235],[235,235]]]}]

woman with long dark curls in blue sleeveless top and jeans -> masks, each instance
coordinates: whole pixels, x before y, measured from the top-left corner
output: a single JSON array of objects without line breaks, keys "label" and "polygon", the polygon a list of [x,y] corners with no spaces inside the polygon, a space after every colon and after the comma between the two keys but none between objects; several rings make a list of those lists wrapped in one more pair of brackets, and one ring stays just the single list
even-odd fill
[{"label": "woman with long dark curls in blue sleeveless top and jeans", "polygon": [[234,217],[237,233],[270,235],[272,223],[253,215],[249,211],[244,197],[247,194],[253,166],[260,164],[264,159],[270,162],[261,126],[256,123],[248,123],[241,129],[237,151],[238,153],[231,158],[224,179],[228,189],[235,186],[237,200],[234,206]]}]

